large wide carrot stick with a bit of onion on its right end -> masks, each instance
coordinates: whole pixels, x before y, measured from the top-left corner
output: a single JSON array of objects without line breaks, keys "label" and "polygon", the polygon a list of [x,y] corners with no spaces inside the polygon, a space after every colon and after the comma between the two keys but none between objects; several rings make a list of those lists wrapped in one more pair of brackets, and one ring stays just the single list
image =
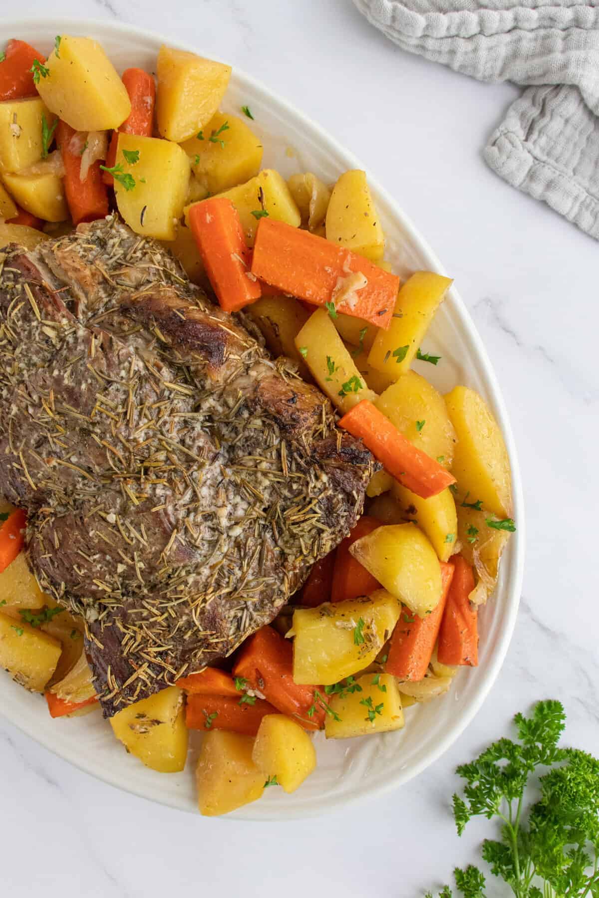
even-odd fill
[{"label": "large wide carrot stick with a bit of onion on its right end", "polygon": [[[337,311],[365,318],[385,330],[400,288],[399,277],[363,256],[274,218],[260,219],[251,270],[283,293],[314,305],[332,302]],[[354,278],[352,290],[351,276],[357,274],[366,283]],[[346,298],[344,287],[348,288]]]}]

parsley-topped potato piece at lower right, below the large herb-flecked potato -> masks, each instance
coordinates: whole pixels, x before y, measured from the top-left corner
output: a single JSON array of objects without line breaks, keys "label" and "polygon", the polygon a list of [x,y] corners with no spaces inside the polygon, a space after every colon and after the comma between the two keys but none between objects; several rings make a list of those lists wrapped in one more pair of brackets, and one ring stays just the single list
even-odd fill
[{"label": "parsley-topped potato piece at lower right, below the large herb-flecked potato", "polygon": [[357,735],[388,733],[404,724],[401,695],[391,674],[364,674],[354,692],[332,695],[324,733],[327,739],[351,739]]}]

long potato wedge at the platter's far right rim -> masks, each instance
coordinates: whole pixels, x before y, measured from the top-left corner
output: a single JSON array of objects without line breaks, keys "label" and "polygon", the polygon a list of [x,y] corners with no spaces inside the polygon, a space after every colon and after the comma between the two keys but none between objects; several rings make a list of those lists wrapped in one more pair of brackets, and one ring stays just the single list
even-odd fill
[{"label": "long potato wedge at the platter's far right rim", "polygon": [[481,500],[498,517],[512,510],[512,478],[506,444],[487,403],[469,387],[454,387],[445,405],[457,434],[452,473],[470,501]]}]

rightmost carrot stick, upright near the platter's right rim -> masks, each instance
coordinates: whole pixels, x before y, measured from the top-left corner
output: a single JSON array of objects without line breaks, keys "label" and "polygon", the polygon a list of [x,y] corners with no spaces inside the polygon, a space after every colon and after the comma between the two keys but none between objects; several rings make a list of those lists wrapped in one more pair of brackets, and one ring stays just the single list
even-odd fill
[{"label": "rightmost carrot stick, upright near the platter's right rim", "polygon": [[472,568],[461,555],[454,555],[454,578],[447,596],[439,629],[436,656],[442,665],[479,663],[478,611],[472,608],[469,595],[474,589]]}]

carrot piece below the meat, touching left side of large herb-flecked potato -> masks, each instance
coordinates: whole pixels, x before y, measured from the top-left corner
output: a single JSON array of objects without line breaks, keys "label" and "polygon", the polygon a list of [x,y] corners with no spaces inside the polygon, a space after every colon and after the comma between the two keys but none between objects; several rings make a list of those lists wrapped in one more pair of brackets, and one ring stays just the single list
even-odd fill
[{"label": "carrot piece below the meat, touching left side of large herb-flecked potato", "polygon": [[247,680],[251,689],[260,691],[275,708],[295,718],[304,729],[322,729],[325,711],[315,701],[314,691],[324,695],[324,690],[322,686],[300,686],[294,682],[293,654],[288,639],[272,627],[262,627],[243,643],[233,665],[233,675]]}]

